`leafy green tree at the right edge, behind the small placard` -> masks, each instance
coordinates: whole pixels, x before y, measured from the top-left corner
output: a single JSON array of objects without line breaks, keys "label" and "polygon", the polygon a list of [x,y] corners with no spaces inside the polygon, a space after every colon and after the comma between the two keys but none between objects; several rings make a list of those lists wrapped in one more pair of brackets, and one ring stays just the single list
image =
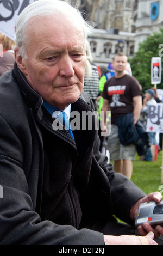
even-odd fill
[{"label": "leafy green tree at the right edge, behind the small placard", "polygon": [[[129,60],[133,76],[137,78],[142,86],[143,92],[153,87],[151,84],[151,59],[163,56],[163,28],[160,32],[154,32],[146,40],[139,44],[139,50]],[[163,67],[163,60],[162,60]],[[163,89],[163,81],[157,84],[158,89]]]}]

